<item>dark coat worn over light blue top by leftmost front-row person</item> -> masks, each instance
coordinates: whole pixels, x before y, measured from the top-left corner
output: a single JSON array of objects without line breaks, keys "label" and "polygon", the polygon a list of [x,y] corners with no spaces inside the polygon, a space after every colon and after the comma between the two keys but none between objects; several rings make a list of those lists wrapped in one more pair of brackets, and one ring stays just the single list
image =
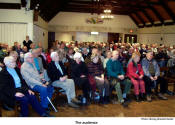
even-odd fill
[{"label": "dark coat worn over light blue top by leftmost front-row person", "polygon": [[0,95],[2,102],[7,105],[14,107],[15,105],[15,94],[16,92],[26,93],[29,90],[25,80],[22,78],[19,68],[15,68],[20,80],[21,88],[15,87],[15,81],[13,77],[9,74],[6,67],[0,72]]}]

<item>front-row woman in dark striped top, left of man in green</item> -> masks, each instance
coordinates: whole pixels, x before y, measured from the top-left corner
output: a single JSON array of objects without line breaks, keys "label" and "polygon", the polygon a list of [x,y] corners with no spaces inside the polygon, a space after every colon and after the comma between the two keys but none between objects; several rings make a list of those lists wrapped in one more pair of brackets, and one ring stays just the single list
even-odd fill
[{"label": "front-row woman in dark striped top, left of man in green", "polygon": [[103,64],[98,55],[91,55],[91,62],[88,63],[88,72],[89,76],[95,80],[95,87],[92,87],[93,93],[95,93],[97,86],[100,90],[100,103],[109,103],[109,82],[104,78]]}]

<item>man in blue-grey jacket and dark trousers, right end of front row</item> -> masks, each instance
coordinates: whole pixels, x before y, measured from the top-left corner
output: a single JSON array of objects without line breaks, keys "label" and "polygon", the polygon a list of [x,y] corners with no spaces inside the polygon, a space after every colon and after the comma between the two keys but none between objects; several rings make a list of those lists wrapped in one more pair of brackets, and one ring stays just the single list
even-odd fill
[{"label": "man in blue-grey jacket and dark trousers, right end of front row", "polygon": [[[163,93],[167,89],[167,82],[160,77],[160,68],[155,59],[153,59],[153,52],[148,51],[146,57],[141,62],[144,71],[144,81],[147,94],[147,101],[151,101],[151,89],[154,88],[156,94],[160,99],[167,100],[167,97],[163,96]],[[160,93],[158,93],[158,84],[160,83]]]}]

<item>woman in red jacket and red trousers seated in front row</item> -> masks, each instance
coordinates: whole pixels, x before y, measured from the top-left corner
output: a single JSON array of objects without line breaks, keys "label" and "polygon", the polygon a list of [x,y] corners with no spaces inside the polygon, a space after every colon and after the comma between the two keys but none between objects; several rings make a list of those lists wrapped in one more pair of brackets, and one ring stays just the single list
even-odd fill
[{"label": "woman in red jacket and red trousers seated in front row", "polygon": [[131,79],[134,85],[134,93],[136,96],[136,101],[139,102],[139,92],[141,92],[142,100],[145,100],[145,83],[143,81],[144,72],[142,69],[140,61],[140,53],[134,52],[131,57],[131,61],[127,67],[127,76]]}]

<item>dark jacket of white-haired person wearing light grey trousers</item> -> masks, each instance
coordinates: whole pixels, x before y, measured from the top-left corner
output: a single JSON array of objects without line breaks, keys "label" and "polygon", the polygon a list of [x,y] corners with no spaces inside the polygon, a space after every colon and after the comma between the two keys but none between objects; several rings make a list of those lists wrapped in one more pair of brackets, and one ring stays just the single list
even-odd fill
[{"label": "dark jacket of white-haired person wearing light grey trousers", "polygon": [[56,65],[55,65],[55,62],[51,61],[49,64],[48,64],[48,67],[47,67],[47,74],[49,76],[49,78],[51,79],[52,82],[56,81],[56,80],[59,80],[60,77],[63,77],[65,75],[67,75],[67,72],[64,68],[64,65],[62,62],[59,61],[59,64],[61,66],[61,69],[63,71],[63,75],[61,74],[60,70],[57,69]]}]

